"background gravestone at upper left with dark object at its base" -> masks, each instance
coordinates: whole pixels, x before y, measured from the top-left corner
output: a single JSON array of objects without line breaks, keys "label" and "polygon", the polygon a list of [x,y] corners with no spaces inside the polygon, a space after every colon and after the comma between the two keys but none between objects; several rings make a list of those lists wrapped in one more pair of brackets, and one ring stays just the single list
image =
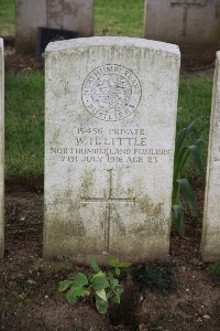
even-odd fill
[{"label": "background gravestone at upper left with dark object at its base", "polygon": [[94,0],[16,0],[15,49],[35,53],[37,28],[47,26],[94,34]]}]

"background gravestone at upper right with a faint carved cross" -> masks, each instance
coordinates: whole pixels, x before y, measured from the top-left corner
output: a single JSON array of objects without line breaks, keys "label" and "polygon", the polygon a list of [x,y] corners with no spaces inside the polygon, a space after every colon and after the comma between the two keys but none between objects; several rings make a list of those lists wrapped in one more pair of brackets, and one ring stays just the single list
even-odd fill
[{"label": "background gravestone at upper right with a faint carved cross", "polygon": [[187,60],[215,60],[219,26],[219,0],[145,0],[145,38],[178,44]]}]

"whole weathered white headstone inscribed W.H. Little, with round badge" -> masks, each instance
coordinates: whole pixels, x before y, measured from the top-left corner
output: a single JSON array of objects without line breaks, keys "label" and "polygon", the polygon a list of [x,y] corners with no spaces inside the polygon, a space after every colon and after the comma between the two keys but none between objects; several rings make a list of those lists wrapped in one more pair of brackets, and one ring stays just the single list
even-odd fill
[{"label": "whole weathered white headstone inscribed W.H. Little, with round badge", "polygon": [[44,256],[167,256],[178,47],[91,38],[45,56]]}]

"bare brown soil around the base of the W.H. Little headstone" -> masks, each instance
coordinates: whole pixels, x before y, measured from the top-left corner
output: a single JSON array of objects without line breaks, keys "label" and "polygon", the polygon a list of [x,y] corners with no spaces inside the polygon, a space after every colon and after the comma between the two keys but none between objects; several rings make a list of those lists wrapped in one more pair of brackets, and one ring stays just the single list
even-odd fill
[{"label": "bare brown soil around the base of the W.H. Little headstone", "polygon": [[42,259],[41,183],[35,180],[30,188],[21,181],[7,182],[6,258],[0,264],[1,330],[220,330],[220,277],[210,273],[199,253],[204,204],[199,183],[197,217],[191,220],[186,214],[186,237],[179,238],[173,231],[170,258],[161,261],[165,271],[166,264],[175,266],[169,280],[173,286],[165,291],[157,286],[141,286],[131,270],[122,280],[121,306],[110,309],[107,316],[98,314],[89,301],[69,306],[58,293],[58,282],[84,268],[65,259]]}]

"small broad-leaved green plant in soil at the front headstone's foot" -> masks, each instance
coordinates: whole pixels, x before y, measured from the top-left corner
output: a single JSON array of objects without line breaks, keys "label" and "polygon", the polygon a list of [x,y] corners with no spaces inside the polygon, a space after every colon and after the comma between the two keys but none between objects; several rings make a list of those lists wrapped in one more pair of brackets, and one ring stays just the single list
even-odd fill
[{"label": "small broad-leaved green plant in soil at the front headstone's foot", "polygon": [[130,263],[120,261],[117,257],[107,256],[106,263],[112,270],[102,271],[94,256],[89,257],[92,273],[85,275],[78,273],[61,281],[58,290],[66,292],[66,299],[74,305],[85,297],[92,297],[99,313],[106,313],[109,302],[120,303],[123,287],[119,282],[122,268],[131,266]]}]

